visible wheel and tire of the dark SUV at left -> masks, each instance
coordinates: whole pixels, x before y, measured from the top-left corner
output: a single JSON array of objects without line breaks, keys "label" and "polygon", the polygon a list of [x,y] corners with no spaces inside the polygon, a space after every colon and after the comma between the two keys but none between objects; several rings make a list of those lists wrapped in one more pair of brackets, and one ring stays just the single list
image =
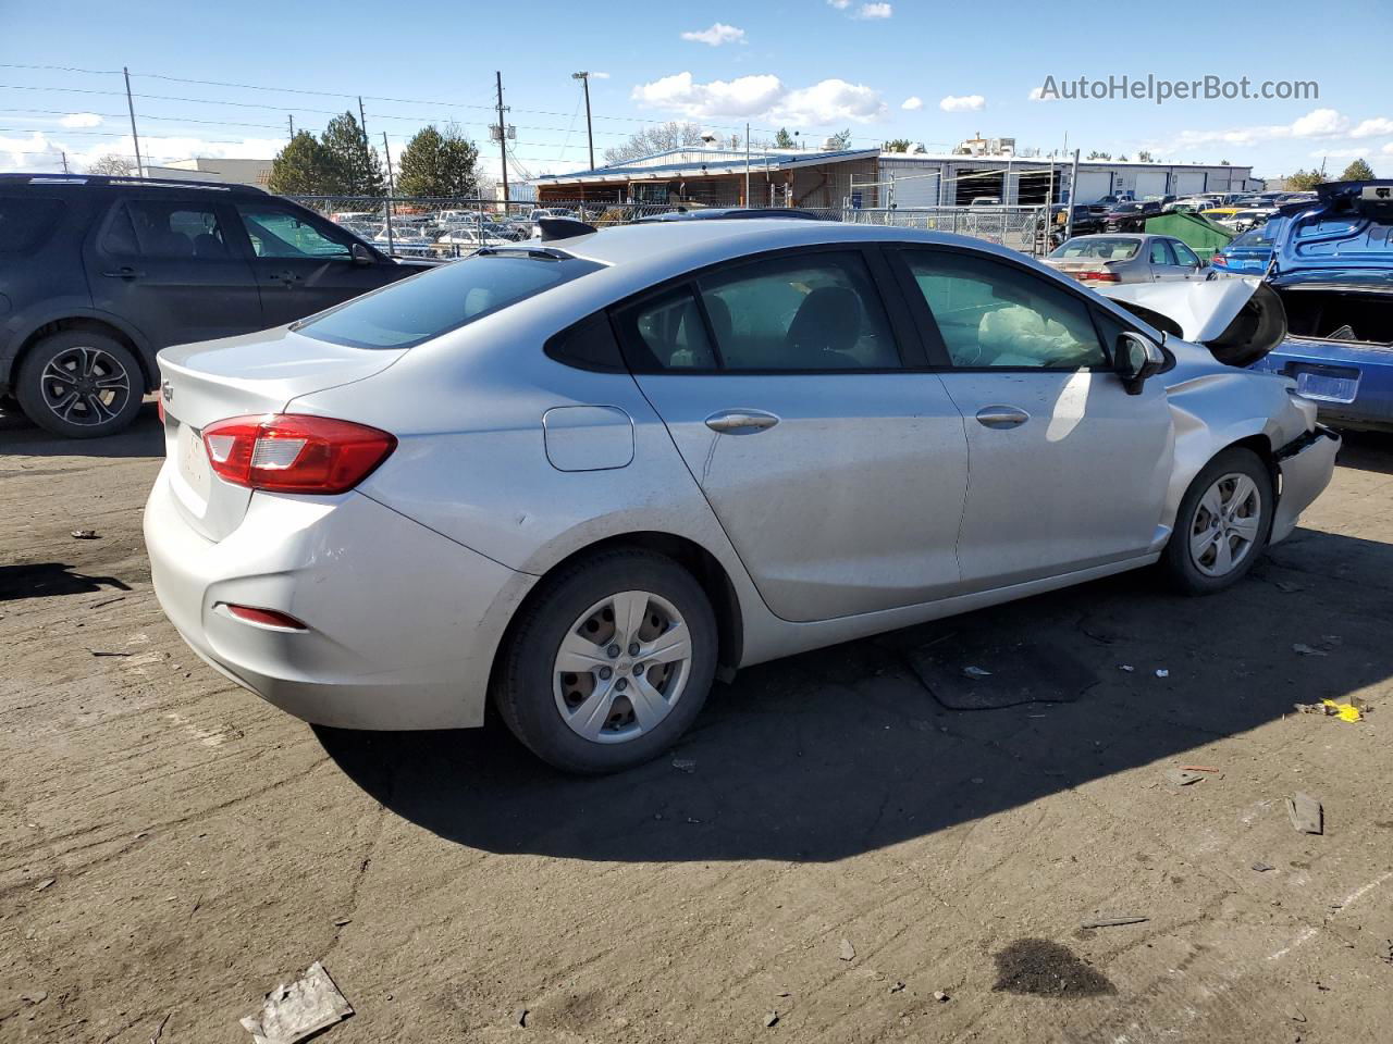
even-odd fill
[{"label": "visible wheel and tire of the dark SUV at left", "polygon": [[[67,362],[77,366],[71,384],[54,380],[49,367],[56,361],[57,369],[65,370]],[[67,411],[60,409],[64,388],[78,395]],[[25,355],[14,394],[39,427],[67,438],[99,438],[116,434],[141,412],[145,373],[131,349],[114,337],[93,330],[59,330]]]}]

